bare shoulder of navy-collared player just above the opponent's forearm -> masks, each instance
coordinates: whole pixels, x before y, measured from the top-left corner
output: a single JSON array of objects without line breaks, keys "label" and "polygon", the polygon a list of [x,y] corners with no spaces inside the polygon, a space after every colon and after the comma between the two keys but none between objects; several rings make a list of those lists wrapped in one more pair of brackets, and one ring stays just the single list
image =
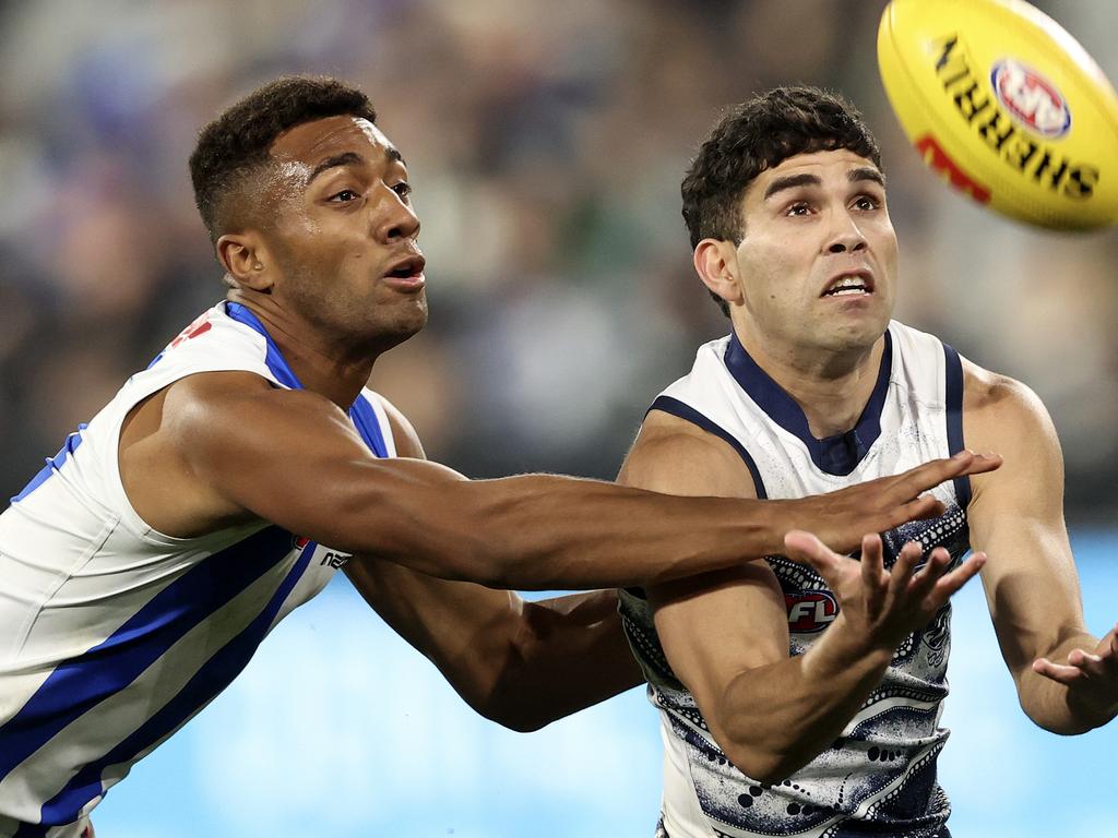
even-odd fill
[{"label": "bare shoulder of navy-collared player just above the opponent's forearm", "polygon": [[726,441],[660,410],[648,411],[617,482],[674,495],[757,494],[745,463]]}]

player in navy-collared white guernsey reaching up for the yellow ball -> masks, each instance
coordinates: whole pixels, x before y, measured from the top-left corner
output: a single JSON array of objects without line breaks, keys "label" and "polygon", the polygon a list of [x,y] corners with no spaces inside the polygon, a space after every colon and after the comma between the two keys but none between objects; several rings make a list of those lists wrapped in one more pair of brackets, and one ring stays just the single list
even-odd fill
[{"label": "player in navy-collared white guernsey reaching up for the yellow ball", "polygon": [[1083,625],[1052,422],[1025,385],[890,320],[884,175],[841,98],[777,88],[730,109],[682,192],[731,334],[653,403],[620,483],[784,498],[964,445],[1004,465],[937,489],[941,518],[868,536],[860,562],[793,533],[767,562],[623,592],[665,741],[660,832],[946,836],[948,598],[979,569],[1029,716],[1070,734],[1118,713],[1118,641]]}]

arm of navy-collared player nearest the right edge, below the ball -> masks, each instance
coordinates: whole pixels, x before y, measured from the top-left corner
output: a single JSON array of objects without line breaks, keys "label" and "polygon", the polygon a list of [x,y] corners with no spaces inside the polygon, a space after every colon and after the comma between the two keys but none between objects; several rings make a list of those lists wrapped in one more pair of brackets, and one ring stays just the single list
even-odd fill
[{"label": "arm of navy-collared player nearest the right edge, below the ball", "polygon": [[996,474],[972,480],[972,543],[989,554],[986,601],[1022,708],[1055,733],[1082,733],[1118,714],[1118,641],[1083,625],[1063,520],[1063,456],[1048,411],[1023,384],[967,364],[964,434],[995,441]]}]

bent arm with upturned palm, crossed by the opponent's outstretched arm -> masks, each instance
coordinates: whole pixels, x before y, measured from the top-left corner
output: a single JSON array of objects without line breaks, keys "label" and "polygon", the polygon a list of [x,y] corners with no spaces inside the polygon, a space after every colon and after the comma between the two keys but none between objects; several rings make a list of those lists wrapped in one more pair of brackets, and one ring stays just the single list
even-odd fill
[{"label": "bent arm with upturned palm, crossed by the opponent's outstretched arm", "polygon": [[[623,479],[665,492],[752,493],[745,466],[719,440],[654,421]],[[755,780],[778,782],[827,747],[880,683],[900,640],[980,565],[945,575],[949,556],[939,551],[913,577],[920,552],[906,547],[888,573],[880,539],[862,549],[856,562],[806,534],[788,536],[788,554],[814,564],[841,603],[836,620],[797,657],[789,656],[779,583],[764,563],[648,589],[673,672],[730,761]]]}]

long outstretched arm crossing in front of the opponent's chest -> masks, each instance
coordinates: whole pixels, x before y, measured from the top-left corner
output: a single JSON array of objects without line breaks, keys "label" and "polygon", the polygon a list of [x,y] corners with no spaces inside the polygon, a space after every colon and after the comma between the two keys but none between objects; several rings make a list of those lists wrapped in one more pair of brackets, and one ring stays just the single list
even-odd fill
[{"label": "long outstretched arm crossing in front of the opponent's chest", "polygon": [[966,455],[764,503],[547,475],[466,480],[425,460],[378,459],[337,406],[249,373],[192,375],[164,392],[155,430],[127,450],[121,444],[125,488],[148,502],[138,511],[157,528],[191,535],[263,518],[350,553],[495,588],[664,581],[779,550],[797,527],[852,549],[862,532],[936,513],[922,492],[985,467]]}]

